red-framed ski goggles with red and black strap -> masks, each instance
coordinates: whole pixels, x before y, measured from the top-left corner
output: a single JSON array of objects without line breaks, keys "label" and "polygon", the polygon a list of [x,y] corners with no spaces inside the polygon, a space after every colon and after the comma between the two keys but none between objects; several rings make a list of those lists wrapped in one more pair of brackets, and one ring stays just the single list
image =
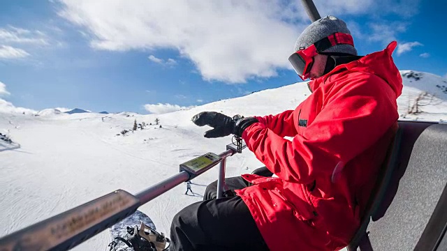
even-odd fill
[{"label": "red-framed ski goggles with red and black strap", "polygon": [[288,57],[288,61],[291,62],[295,72],[301,77],[302,80],[309,78],[310,69],[314,64],[314,56],[330,47],[335,45],[352,45],[354,41],[351,35],[348,33],[336,32],[332,35],[316,41],[309,47],[300,47],[300,50],[294,52]]}]

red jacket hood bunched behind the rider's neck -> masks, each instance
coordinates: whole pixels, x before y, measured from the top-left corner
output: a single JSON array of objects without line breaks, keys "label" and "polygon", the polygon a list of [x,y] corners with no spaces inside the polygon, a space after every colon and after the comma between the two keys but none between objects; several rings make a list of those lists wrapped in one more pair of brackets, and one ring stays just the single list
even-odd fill
[{"label": "red jacket hood bunched behind the rider's neck", "polygon": [[395,66],[393,57],[391,56],[396,46],[397,42],[393,41],[385,48],[385,50],[367,54],[361,59],[352,61],[351,63],[339,65],[331,70],[330,73],[309,82],[309,89],[314,91],[330,76],[347,70],[348,72],[372,73],[381,77],[381,79],[385,80],[391,86],[393,91],[396,93],[397,98],[400,94],[402,94],[403,86],[402,77],[399,70],[397,70],[397,67]]}]

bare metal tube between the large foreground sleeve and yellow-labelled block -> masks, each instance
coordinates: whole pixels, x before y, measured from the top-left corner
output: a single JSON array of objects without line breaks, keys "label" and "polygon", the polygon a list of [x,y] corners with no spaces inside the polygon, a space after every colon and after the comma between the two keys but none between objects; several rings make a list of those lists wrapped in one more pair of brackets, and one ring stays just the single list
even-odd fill
[{"label": "bare metal tube between the large foreground sleeve and yellow-labelled block", "polygon": [[147,188],[138,194],[135,195],[140,200],[140,206],[142,204],[146,204],[147,202],[155,199],[159,195],[162,195],[164,192],[171,190],[175,186],[189,180],[189,174],[186,171],[179,172],[174,176],[157,183],[156,185],[152,185],[152,187]]}]

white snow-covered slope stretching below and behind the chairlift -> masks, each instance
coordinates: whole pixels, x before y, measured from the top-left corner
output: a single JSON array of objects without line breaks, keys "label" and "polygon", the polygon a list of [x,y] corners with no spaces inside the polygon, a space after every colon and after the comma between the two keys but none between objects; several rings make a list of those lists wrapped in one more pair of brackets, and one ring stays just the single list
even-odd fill
[{"label": "white snow-covered slope stretching below and behind the chairlift", "polygon": [[[442,89],[447,86],[446,79],[420,74],[418,80],[403,77],[405,87],[398,99],[401,119],[447,121],[447,91]],[[408,114],[409,103],[424,91],[434,95],[434,101],[420,107],[420,114]],[[205,139],[203,132],[209,128],[190,121],[198,112],[277,114],[294,109],[309,94],[307,84],[298,83],[159,115],[64,114],[54,109],[39,116],[0,113],[0,132],[21,146],[0,151],[0,236],[119,188],[135,194],[176,174],[186,160],[209,151],[225,151],[231,138]],[[152,126],[120,135],[132,128],[135,119]],[[161,128],[154,125],[155,119]],[[228,159],[227,176],[248,173],[261,165],[253,153],[244,151]],[[212,169],[194,179],[193,192],[203,194],[205,185],[216,178],[217,169]],[[173,215],[201,199],[184,195],[185,191],[186,185],[179,185],[140,210],[152,218],[159,231],[168,233]],[[75,250],[105,250],[109,242],[105,231]]]}]

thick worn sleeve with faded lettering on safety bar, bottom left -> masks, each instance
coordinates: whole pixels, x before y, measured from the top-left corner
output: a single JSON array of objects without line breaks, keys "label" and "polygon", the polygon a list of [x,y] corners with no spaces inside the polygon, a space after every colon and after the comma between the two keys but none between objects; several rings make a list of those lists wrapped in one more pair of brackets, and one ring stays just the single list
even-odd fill
[{"label": "thick worn sleeve with faded lettering on safety bar, bottom left", "polygon": [[117,190],[0,238],[0,250],[68,250],[131,215],[137,208],[137,198]]}]

